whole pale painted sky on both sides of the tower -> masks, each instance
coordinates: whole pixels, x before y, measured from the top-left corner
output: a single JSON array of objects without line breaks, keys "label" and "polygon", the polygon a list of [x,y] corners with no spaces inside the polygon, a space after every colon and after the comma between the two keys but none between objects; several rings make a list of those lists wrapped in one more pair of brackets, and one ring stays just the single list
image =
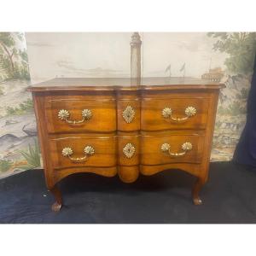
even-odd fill
[{"label": "whole pale painted sky on both sides of the tower", "polygon": [[[132,32],[27,32],[32,83],[55,77],[130,77]],[[225,55],[214,52],[214,39],[203,32],[140,32],[143,77],[201,77],[212,67],[224,69]]]}]

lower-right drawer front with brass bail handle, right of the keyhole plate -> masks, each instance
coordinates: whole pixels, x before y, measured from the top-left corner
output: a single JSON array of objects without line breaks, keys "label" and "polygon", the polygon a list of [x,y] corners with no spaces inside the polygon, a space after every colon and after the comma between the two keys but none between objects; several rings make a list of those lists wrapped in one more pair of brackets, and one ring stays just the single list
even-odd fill
[{"label": "lower-right drawer front with brass bail handle, right of the keyhole plate", "polygon": [[142,165],[201,163],[204,136],[142,136]]}]

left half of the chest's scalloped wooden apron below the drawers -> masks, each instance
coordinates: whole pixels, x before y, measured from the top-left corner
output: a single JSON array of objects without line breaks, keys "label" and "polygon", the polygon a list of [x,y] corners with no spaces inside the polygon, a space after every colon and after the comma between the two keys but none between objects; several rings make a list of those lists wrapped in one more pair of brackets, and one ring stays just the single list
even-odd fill
[{"label": "left half of the chest's scalloped wooden apron below the drawers", "polygon": [[83,167],[83,168],[68,168],[68,169],[62,169],[54,172],[55,177],[55,183],[58,183],[61,181],[62,178],[67,177],[73,173],[81,173],[81,172],[91,172],[98,175],[102,175],[104,177],[113,177],[117,174],[118,168],[116,166],[113,167],[102,167],[102,168],[96,168],[96,167]]}]

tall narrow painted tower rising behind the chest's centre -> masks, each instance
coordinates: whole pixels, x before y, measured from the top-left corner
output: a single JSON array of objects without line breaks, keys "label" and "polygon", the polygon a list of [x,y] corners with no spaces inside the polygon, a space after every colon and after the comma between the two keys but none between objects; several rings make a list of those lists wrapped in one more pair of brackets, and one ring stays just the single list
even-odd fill
[{"label": "tall narrow painted tower rising behind the chest's centre", "polygon": [[141,46],[142,41],[138,32],[131,36],[131,84],[141,84]]}]

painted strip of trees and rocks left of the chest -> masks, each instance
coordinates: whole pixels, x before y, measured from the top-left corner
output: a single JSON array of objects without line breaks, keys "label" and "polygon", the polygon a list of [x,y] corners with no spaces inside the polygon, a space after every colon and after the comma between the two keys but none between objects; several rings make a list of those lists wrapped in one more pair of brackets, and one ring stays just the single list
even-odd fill
[{"label": "painted strip of trees and rocks left of the chest", "polygon": [[40,166],[26,41],[0,32],[0,176]]}]

